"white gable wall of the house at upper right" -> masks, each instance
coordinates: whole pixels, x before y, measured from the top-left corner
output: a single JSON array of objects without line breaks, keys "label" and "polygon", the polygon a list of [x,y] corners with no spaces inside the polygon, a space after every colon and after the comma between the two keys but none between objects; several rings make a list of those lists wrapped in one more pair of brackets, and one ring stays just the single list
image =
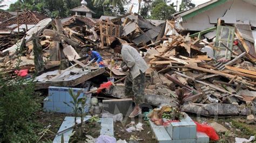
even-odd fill
[{"label": "white gable wall of the house at upper right", "polygon": [[182,25],[186,30],[201,31],[217,24],[218,18],[225,20],[227,24],[256,22],[256,6],[242,0],[229,0],[216,8],[183,20]]}]

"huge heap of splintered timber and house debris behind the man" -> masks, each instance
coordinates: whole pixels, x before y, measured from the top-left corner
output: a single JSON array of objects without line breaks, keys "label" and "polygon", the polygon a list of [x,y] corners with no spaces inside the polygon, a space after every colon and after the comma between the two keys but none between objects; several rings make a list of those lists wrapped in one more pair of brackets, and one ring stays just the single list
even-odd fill
[{"label": "huge heap of splintered timber and house debris behind the man", "polygon": [[[171,20],[147,20],[136,13],[100,19],[46,18],[20,33],[22,38],[11,47],[14,35],[0,38],[0,70],[15,71],[17,55],[21,54],[21,69],[38,74],[37,89],[52,85],[75,87],[103,73],[122,82],[126,74],[117,69],[118,63],[110,66],[114,56],[108,46],[117,38],[136,47],[150,67],[146,71],[150,77],[147,103],[171,104],[177,98],[174,91],[182,89],[189,94],[186,100],[190,104],[184,105],[186,112],[250,115],[251,109],[246,106],[251,104],[255,112],[256,59],[253,43],[243,34],[247,27],[226,26],[219,20],[217,27],[207,31],[216,30],[216,34],[203,39],[201,35],[207,32],[190,34],[177,26]],[[88,63],[87,47],[103,55],[106,68]],[[119,83],[106,93],[112,98],[125,98],[123,91],[124,85]]]}]

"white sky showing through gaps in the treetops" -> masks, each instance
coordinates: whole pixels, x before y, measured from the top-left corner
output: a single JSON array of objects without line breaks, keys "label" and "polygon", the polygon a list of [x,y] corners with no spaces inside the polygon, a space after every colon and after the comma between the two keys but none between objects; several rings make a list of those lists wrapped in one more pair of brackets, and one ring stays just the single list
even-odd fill
[{"label": "white sky showing through gaps in the treetops", "polygon": [[[3,8],[4,10],[8,9],[9,8],[9,5],[11,3],[15,3],[17,0],[4,0],[3,4],[5,5],[8,5],[8,6],[5,6],[5,8]],[[177,0],[171,0],[171,3],[174,3],[176,4],[176,1]],[[196,4],[196,5],[199,5],[199,4],[202,4],[202,3],[205,3],[205,2],[208,2],[210,0],[192,0],[192,3]],[[132,12],[138,12],[138,8],[139,8],[139,4],[138,4],[138,0],[132,0],[131,2],[133,4],[133,9],[132,9]],[[181,3],[181,0],[178,0],[178,5]],[[129,10],[131,4],[130,5],[127,5],[126,6],[126,9]]]}]

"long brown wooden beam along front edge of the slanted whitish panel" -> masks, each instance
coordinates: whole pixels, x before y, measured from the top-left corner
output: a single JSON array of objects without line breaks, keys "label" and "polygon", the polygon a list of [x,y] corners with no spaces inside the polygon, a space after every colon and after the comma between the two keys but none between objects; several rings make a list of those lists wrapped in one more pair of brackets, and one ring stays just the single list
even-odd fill
[{"label": "long brown wooden beam along front edge of the slanted whitish panel", "polygon": [[95,71],[91,71],[91,73],[88,73],[82,77],[77,78],[76,80],[72,81],[57,81],[57,82],[37,82],[35,85],[35,89],[46,89],[50,86],[56,86],[56,87],[75,87],[76,85],[90,80],[91,78],[103,74],[105,72],[105,68],[99,68]]}]

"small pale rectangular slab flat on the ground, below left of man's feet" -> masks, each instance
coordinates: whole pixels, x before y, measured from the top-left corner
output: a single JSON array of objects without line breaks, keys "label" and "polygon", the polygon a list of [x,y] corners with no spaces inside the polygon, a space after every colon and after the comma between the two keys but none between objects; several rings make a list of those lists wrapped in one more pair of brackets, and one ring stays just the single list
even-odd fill
[{"label": "small pale rectangular slab flat on the ground, below left of man's feet", "polygon": [[110,137],[114,137],[113,118],[102,118],[101,126],[100,135],[109,135]]}]

